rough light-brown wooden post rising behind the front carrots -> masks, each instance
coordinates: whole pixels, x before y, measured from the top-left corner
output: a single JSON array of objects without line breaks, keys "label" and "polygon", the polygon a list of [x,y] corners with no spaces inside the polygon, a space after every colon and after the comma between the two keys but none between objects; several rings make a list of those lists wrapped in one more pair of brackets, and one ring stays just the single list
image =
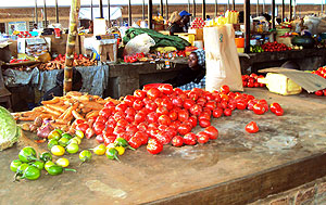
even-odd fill
[{"label": "rough light-brown wooden post rising behind the front carrots", "polygon": [[76,38],[78,36],[78,15],[80,10],[80,0],[72,0],[70,14],[70,33],[66,42],[65,66],[64,66],[64,81],[63,94],[65,95],[73,89],[73,62]]}]

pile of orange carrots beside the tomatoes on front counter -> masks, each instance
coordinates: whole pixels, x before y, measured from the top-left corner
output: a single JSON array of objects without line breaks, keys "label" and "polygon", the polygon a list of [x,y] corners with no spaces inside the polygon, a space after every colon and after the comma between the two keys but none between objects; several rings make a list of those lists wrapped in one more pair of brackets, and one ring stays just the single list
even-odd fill
[{"label": "pile of orange carrots beside the tomatoes on front counter", "polygon": [[[117,104],[120,101],[98,95],[83,94],[71,91],[65,97],[54,97],[50,101],[42,101],[43,106],[35,107],[32,111],[13,114],[16,120],[29,121],[24,124],[23,129],[29,131],[49,129],[49,127],[61,128],[64,131],[74,132],[77,119],[89,119],[97,116],[106,102]],[[47,119],[47,120],[43,120]],[[47,124],[48,121],[51,124]],[[40,134],[46,138],[46,134]]]}]

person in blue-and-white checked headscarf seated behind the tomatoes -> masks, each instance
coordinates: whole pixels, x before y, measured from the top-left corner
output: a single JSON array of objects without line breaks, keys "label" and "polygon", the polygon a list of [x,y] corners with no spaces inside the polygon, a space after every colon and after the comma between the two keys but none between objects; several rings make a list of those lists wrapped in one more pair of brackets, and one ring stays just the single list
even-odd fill
[{"label": "person in blue-and-white checked headscarf seated behind the tomatoes", "polygon": [[173,87],[179,87],[181,90],[191,90],[192,88],[205,87],[205,52],[198,49],[190,53],[188,66],[179,74],[163,84],[171,84]]}]

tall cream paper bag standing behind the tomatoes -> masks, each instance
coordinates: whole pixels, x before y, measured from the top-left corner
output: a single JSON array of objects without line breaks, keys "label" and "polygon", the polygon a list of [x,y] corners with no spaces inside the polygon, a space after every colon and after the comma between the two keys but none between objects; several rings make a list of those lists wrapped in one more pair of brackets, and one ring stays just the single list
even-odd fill
[{"label": "tall cream paper bag standing behind the tomatoes", "polygon": [[227,85],[231,91],[243,91],[240,61],[233,25],[204,27],[208,91]]}]

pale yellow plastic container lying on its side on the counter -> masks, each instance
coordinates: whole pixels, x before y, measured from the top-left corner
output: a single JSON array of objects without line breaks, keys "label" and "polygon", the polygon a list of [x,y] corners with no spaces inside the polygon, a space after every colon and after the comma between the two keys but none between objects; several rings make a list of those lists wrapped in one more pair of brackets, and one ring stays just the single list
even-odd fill
[{"label": "pale yellow plastic container lying on its side on the counter", "polygon": [[265,84],[271,92],[288,95],[299,94],[302,88],[283,74],[267,73],[265,78],[258,78],[258,82]]}]

